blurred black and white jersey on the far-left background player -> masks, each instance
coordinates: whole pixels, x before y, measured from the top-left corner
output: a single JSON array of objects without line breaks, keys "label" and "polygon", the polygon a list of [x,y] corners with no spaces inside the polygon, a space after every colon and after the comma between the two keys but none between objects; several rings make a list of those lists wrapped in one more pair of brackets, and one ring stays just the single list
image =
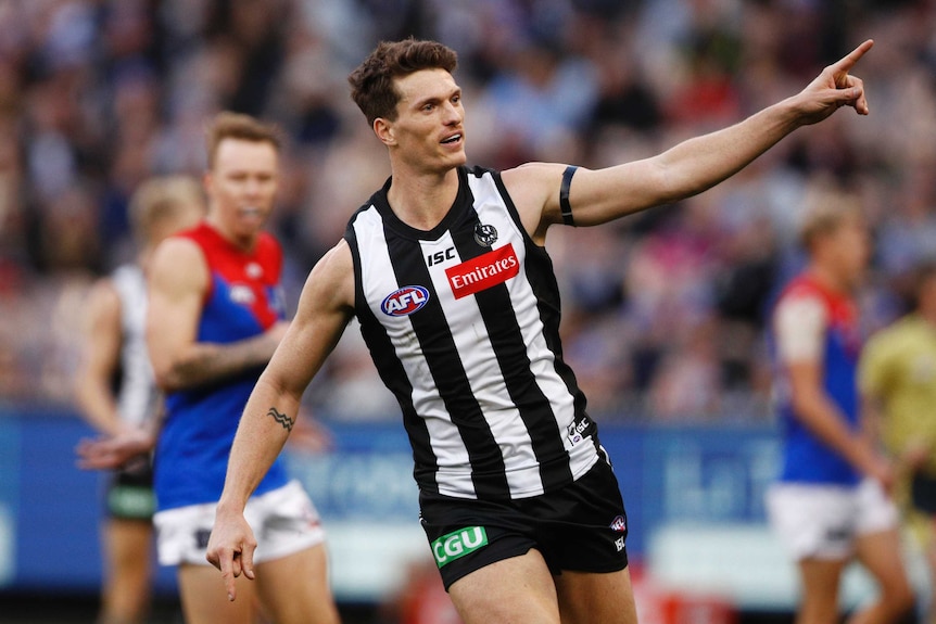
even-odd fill
[{"label": "blurred black and white jersey on the far-left background player", "polygon": [[160,392],[147,351],[147,282],[137,265],[122,265],[111,276],[121,300],[121,371],[117,413],[126,422],[141,425],[160,407]]}]

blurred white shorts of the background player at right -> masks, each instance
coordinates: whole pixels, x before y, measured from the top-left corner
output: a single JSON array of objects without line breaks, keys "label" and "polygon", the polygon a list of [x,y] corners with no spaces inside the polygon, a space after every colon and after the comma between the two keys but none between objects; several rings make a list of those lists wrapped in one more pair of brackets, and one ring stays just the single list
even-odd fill
[{"label": "blurred white shorts of the background player at right", "polygon": [[897,507],[872,479],[856,487],[776,483],[767,494],[767,513],[797,561],[848,559],[856,537],[898,523]]}]

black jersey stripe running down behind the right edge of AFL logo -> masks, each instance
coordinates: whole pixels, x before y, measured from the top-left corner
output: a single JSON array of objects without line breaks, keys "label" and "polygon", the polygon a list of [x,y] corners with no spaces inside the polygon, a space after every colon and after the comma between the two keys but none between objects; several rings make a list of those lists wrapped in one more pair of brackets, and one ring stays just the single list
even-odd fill
[{"label": "black jersey stripe running down behind the right edge of AFL logo", "polygon": [[465,444],[476,496],[482,499],[509,498],[504,457],[475,398],[461,360],[453,357],[458,353],[455,338],[448,330],[442,304],[432,286],[421,247],[394,235],[390,228],[384,227],[384,234],[397,282],[422,284],[429,290],[429,301],[417,314],[410,315],[409,320],[439,396]]}]

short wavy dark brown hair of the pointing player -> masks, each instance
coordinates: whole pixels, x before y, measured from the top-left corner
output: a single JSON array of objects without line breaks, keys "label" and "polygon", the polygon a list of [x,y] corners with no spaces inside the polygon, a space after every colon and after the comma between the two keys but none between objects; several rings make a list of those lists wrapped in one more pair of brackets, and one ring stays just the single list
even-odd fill
[{"label": "short wavy dark brown hair of the pointing player", "polygon": [[374,125],[378,117],[392,122],[396,118],[396,103],[400,102],[394,78],[422,69],[445,69],[451,74],[457,65],[455,50],[438,41],[413,38],[381,41],[347,77],[351,97],[368,124]]}]

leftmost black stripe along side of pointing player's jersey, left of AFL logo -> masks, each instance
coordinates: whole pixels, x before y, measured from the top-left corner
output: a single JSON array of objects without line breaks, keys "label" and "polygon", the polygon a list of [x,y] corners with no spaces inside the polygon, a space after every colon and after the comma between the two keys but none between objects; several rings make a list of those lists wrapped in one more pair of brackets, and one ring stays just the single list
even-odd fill
[{"label": "leftmost black stripe along side of pointing player's jersey, left of AFL logo", "polygon": [[355,311],[357,320],[361,322],[361,334],[365,343],[370,349],[370,356],[374,359],[374,365],[383,384],[396,397],[400,404],[400,409],[403,412],[403,426],[409,436],[409,444],[413,447],[413,476],[419,487],[427,492],[439,492],[439,484],[435,481],[435,471],[438,462],[435,454],[432,453],[430,443],[429,430],[426,421],[416,412],[413,405],[413,385],[409,383],[409,378],[403,368],[403,362],[396,356],[396,351],[393,348],[393,343],[390,336],[387,335],[387,329],[378,321],[370,311],[370,306],[364,295],[361,272],[361,252],[357,246],[357,234],[352,225],[349,226],[344,239],[351,247],[351,255],[354,259],[354,298]]}]

